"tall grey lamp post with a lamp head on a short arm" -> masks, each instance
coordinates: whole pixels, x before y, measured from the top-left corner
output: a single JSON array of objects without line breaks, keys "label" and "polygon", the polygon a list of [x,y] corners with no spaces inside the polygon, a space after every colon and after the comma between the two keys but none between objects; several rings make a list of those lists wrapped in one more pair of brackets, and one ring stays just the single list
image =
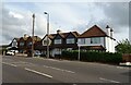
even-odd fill
[{"label": "tall grey lamp post with a lamp head on a short arm", "polygon": [[44,12],[47,15],[47,58],[49,58],[49,13]]}]

